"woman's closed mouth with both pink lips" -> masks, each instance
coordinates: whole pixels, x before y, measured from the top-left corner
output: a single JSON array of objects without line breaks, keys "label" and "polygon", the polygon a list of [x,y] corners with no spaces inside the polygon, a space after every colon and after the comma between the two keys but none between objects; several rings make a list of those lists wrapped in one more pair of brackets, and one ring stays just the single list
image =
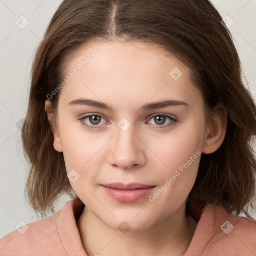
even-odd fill
[{"label": "woman's closed mouth with both pink lips", "polygon": [[104,184],[105,193],[119,202],[134,202],[148,195],[156,186],[140,183],[111,183]]}]

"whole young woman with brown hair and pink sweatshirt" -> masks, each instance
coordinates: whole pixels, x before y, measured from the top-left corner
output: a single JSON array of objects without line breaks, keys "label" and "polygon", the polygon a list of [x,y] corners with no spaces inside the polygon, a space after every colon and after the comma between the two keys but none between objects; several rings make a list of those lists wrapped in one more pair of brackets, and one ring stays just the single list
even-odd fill
[{"label": "whole young woman with brown hair and pink sweatshirt", "polygon": [[254,255],[255,113],[210,1],[64,0],[22,139],[33,209],[74,198],[2,255]]}]

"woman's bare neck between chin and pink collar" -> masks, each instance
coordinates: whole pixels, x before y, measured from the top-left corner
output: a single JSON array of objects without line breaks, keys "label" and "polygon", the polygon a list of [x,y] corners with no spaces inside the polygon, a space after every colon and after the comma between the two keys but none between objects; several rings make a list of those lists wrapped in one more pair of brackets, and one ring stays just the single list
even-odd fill
[{"label": "woman's bare neck between chin and pink collar", "polygon": [[113,229],[87,207],[77,221],[83,246],[93,255],[184,255],[197,222],[185,210],[185,203],[172,216],[150,228],[127,232]]}]

